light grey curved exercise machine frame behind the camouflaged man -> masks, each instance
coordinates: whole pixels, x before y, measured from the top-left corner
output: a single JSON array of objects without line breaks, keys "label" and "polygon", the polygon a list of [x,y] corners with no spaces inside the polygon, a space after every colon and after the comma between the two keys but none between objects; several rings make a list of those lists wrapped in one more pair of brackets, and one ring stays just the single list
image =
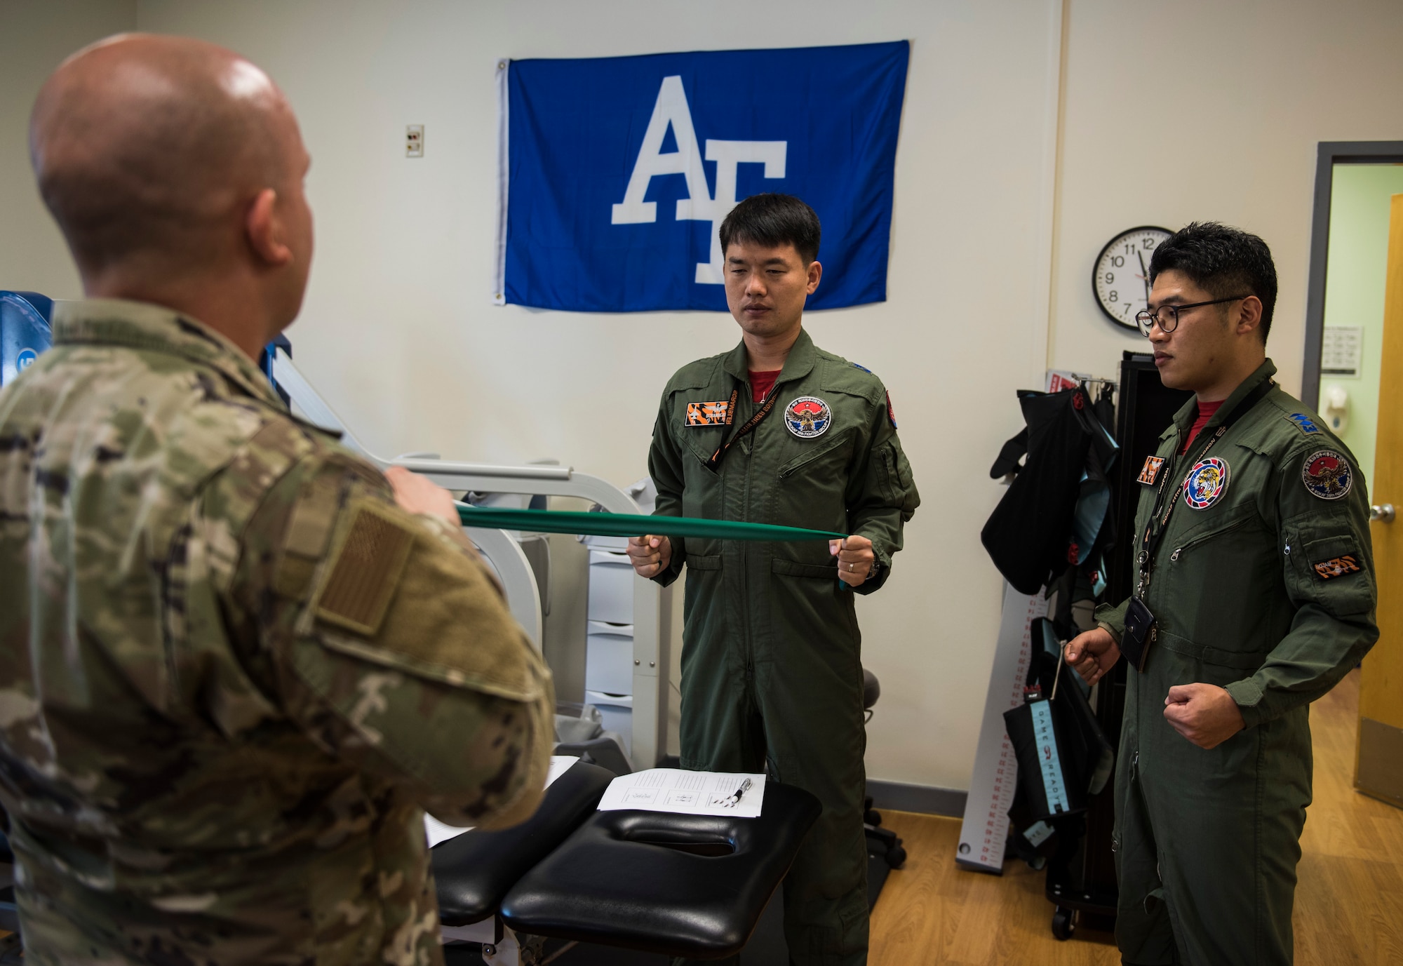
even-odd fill
[{"label": "light grey curved exercise machine frame behind the camouflaged man", "polygon": [[[570,466],[490,466],[445,459],[403,456],[384,459],[370,452],[335,411],[311,388],[283,350],[274,357],[274,382],[292,399],[302,416],[317,425],[337,430],[341,442],[380,466],[403,466],[449,490],[512,493],[526,496],[581,497],[607,512],[640,512],[633,497],[598,476],[577,473]],[[540,591],[530,563],[506,531],[464,528],[469,538],[492,563],[502,578],[512,616],[525,628],[532,643],[542,646]],[[672,595],[651,580],[633,578],[633,761],[652,768],[666,754],[671,667]]]}]

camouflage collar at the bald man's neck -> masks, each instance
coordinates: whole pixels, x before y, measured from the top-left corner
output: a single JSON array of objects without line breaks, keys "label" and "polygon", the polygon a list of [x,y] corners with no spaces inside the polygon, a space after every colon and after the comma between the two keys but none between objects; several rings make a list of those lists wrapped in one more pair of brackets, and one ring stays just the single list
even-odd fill
[{"label": "camouflage collar at the bald man's neck", "polygon": [[126,299],[55,302],[53,344],[125,345],[180,355],[219,369],[250,396],[285,409],[264,373],[233,341],[160,305]]}]

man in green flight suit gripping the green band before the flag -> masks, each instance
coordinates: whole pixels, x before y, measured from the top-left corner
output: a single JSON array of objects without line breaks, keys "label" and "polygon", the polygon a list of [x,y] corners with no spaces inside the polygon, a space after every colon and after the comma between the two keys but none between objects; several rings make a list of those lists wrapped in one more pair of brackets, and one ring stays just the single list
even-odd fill
[{"label": "man in green flight suit gripping the green band before the flag", "polygon": [[[668,382],[648,472],[657,512],[852,534],[829,545],[630,539],[662,584],[687,567],[682,765],[759,772],[824,805],[784,880],[800,966],[867,962],[863,670],[853,591],[885,583],[920,503],[881,381],[814,345],[819,223],[790,195],[720,227],[741,344]],[[836,566],[835,566],[836,557]]]}]

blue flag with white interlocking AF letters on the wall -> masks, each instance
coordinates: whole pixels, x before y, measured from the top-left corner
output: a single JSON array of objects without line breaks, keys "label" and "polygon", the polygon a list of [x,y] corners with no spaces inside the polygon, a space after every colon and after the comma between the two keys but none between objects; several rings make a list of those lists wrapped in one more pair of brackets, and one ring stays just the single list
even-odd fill
[{"label": "blue flag with white interlocking AF letters on the wall", "polygon": [[575,312],[725,310],[717,229],[798,195],[824,225],[811,309],[887,298],[909,45],[511,60],[497,292]]}]

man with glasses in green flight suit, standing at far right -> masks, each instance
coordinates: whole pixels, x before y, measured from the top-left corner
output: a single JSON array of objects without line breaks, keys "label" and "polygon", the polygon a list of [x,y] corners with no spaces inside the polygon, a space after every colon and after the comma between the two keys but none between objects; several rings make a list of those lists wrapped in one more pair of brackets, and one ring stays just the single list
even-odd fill
[{"label": "man with glasses in green flight suit, standing at far right", "polygon": [[1066,660],[1129,661],[1115,769],[1127,963],[1278,965],[1310,803],[1308,708],[1378,639],[1364,479],[1271,379],[1266,243],[1194,223],[1149,264],[1141,330],[1190,400],[1141,469],[1136,590]]}]

